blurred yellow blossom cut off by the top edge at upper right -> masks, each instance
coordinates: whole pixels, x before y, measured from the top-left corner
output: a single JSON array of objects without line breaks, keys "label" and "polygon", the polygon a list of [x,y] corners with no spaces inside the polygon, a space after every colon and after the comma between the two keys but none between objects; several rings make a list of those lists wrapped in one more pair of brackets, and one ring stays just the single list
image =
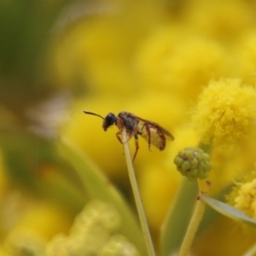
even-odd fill
[{"label": "blurred yellow blossom cut off by the top edge at upper right", "polygon": [[253,6],[242,0],[191,1],[184,6],[183,20],[194,32],[232,39],[254,26]]}]

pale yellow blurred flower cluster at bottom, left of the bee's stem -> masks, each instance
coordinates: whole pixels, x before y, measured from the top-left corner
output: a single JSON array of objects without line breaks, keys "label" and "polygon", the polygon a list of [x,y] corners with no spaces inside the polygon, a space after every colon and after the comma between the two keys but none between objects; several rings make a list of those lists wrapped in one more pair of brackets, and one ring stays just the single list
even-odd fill
[{"label": "pale yellow blurred flower cluster at bottom, left of the bee's stem", "polygon": [[75,219],[69,236],[57,235],[49,241],[46,256],[139,256],[137,248],[119,234],[119,224],[119,213],[110,204],[90,201]]}]

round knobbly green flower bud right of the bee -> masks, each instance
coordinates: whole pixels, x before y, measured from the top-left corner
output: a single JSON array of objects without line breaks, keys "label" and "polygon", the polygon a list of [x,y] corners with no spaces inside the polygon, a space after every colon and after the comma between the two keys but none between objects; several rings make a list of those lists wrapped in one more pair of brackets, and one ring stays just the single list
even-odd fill
[{"label": "round knobbly green flower bud right of the bee", "polygon": [[201,148],[182,149],[174,158],[174,164],[177,166],[177,171],[191,181],[206,178],[212,169],[209,154]]}]

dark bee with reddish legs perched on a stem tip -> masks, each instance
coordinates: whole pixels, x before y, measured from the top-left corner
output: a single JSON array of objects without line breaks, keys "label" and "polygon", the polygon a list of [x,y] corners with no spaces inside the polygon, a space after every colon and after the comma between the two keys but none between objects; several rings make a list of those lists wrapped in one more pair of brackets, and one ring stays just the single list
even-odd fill
[{"label": "dark bee with reddish legs perched on a stem tip", "polygon": [[166,139],[174,140],[172,133],[162,126],[147,119],[142,119],[133,113],[120,112],[117,116],[113,113],[108,113],[105,118],[90,111],[84,110],[84,113],[96,115],[103,119],[102,128],[104,131],[107,131],[109,126],[116,125],[119,128],[119,131],[116,133],[116,137],[120,143],[123,143],[121,140],[121,132],[125,128],[128,141],[131,137],[135,138],[136,151],[133,156],[133,160],[135,160],[139,148],[138,135],[148,141],[149,150],[151,145],[154,145],[154,147],[159,148],[160,150],[164,150],[166,148]]}]

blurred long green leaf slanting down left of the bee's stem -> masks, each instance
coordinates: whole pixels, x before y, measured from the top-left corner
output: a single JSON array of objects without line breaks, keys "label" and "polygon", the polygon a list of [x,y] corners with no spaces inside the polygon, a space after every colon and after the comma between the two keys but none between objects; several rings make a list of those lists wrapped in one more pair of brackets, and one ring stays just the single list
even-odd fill
[{"label": "blurred long green leaf slanting down left of the bee's stem", "polygon": [[113,187],[113,184],[103,175],[90,159],[67,138],[62,138],[58,143],[59,153],[67,163],[79,175],[81,183],[84,184],[84,193],[88,193],[91,198],[112,203],[119,211],[122,219],[120,232],[131,241],[142,255],[147,255],[147,248],[143,238],[143,232],[138,225],[134,212]]}]

